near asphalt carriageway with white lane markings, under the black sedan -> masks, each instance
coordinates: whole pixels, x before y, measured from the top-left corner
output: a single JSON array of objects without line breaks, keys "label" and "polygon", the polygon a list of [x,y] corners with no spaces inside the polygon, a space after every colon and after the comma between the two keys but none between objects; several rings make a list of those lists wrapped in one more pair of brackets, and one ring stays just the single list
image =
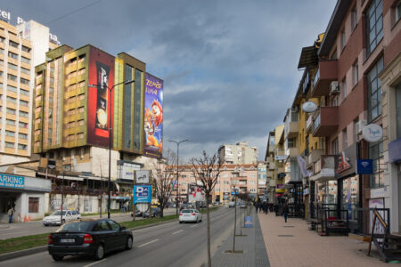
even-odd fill
[{"label": "near asphalt carriageway with white lane markings, under the black sedan", "polygon": [[[211,254],[233,233],[233,208],[221,207],[210,214]],[[201,223],[178,222],[134,231],[132,250],[106,255],[99,262],[82,256],[67,256],[54,262],[47,252],[1,263],[7,267],[39,266],[201,266],[207,263],[206,214]]]}]

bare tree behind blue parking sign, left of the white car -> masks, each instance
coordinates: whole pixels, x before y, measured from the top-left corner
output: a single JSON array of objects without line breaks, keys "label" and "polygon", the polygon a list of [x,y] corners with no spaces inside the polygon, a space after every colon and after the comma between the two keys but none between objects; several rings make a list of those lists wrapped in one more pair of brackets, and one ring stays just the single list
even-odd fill
[{"label": "bare tree behind blue parking sign, left of the white car", "polygon": [[173,192],[173,163],[175,160],[175,154],[173,154],[171,150],[167,150],[163,155],[165,155],[165,157],[158,160],[156,177],[153,179],[156,198],[158,198],[160,203],[160,218],[163,217],[163,211]]}]

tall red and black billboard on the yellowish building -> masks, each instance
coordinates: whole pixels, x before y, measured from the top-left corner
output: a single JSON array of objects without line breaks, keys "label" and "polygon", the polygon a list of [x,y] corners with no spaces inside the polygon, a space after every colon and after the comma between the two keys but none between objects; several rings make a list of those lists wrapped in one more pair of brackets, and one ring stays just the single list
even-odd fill
[{"label": "tall red and black billboard on the yellowish building", "polygon": [[[89,50],[87,101],[87,143],[109,146],[110,125],[113,122],[114,57],[93,46]],[[110,121],[109,121],[110,120]]]}]

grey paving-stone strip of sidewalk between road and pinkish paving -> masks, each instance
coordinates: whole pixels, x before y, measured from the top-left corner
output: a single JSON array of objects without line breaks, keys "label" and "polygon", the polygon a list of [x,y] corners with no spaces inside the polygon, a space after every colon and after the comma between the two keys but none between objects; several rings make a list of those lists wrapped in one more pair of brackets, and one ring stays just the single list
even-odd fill
[{"label": "grey paving-stone strip of sidewalk between road and pinkish paving", "polygon": [[[217,249],[217,252],[212,257],[212,266],[257,266],[269,267],[269,260],[266,253],[265,243],[262,237],[262,231],[258,221],[258,216],[254,209],[249,207],[250,216],[253,218],[252,228],[242,228],[242,235],[235,239],[235,250],[242,250],[242,254],[225,253],[227,250],[233,249],[233,232],[225,240],[222,246]],[[236,234],[240,235],[243,227],[243,217],[241,218],[241,209],[237,213]]]}]

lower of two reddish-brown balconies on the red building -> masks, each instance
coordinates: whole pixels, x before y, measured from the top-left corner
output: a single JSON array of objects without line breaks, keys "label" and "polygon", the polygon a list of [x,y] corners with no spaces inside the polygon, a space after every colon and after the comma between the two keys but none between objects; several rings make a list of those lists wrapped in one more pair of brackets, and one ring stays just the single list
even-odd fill
[{"label": "lower of two reddish-brown balconies on the red building", "polygon": [[321,107],[314,120],[315,137],[330,136],[339,126],[339,107]]}]

